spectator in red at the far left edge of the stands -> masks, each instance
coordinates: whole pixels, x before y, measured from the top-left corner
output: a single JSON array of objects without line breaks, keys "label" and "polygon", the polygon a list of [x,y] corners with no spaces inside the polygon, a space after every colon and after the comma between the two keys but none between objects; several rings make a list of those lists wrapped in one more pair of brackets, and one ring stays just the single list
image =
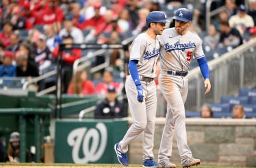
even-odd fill
[{"label": "spectator in red at the far left edge of the stands", "polygon": [[8,47],[10,45],[10,36],[12,34],[12,29],[13,25],[11,22],[4,22],[3,32],[0,33],[0,42],[4,45],[4,47]]}]

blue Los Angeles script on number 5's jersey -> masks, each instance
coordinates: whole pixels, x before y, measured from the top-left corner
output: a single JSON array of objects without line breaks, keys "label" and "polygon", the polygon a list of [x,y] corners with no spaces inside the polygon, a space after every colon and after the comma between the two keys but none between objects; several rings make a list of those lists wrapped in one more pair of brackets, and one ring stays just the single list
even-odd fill
[{"label": "blue Los Angeles script on number 5's jersey", "polygon": [[174,50],[181,50],[183,52],[185,51],[185,49],[195,48],[196,44],[191,43],[191,41],[189,41],[189,43],[180,43],[180,41],[177,41],[174,44],[165,43],[164,46],[165,46],[164,49],[166,52],[170,52]]}]

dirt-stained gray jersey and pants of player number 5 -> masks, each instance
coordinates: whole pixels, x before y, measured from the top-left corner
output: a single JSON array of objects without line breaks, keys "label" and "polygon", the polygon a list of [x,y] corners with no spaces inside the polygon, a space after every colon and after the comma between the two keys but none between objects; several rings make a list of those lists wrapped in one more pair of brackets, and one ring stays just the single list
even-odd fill
[{"label": "dirt-stained gray jersey and pants of player number 5", "polygon": [[[175,28],[165,29],[157,39],[161,46],[159,86],[167,102],[166,122],[158,152],[158,162],[161,163],[171,158],[174,135],[181,160],[192,157],[187,145],[184,106],[188,94],[188,79],[186,76],[175,75],[175,72],[187,72],[191,58],[202,58],[204,52],[201,39],[190,31],[179,35]],[[167,70],[175,72],[168,73]]]}]

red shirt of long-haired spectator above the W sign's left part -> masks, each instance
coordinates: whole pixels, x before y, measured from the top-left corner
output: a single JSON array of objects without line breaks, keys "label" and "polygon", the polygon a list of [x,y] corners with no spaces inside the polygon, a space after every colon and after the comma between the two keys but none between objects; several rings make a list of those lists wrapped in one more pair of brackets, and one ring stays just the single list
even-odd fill
[{"label": "red shirt of long-haired spectator above the W sign's left part", "polygon": [[[86,95],[91,95],[94,94],[94,85],[93,82],[90,80],[86,80],[82,83],[82,95],[86,96]],[[73,85],[70,83],[70,85],[68,86],[68,94],[74,94],[73,93]]]}]

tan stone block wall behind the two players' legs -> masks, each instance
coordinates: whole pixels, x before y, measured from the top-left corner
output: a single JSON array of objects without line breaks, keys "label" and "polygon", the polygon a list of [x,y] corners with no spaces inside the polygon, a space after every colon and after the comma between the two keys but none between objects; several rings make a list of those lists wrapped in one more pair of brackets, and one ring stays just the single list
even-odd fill
[{"label": "tan stone block wall behind the two players' legs", "polygon": [[[156,120],[155,161],[164,122],[164,118]],[[186,125],[188,145],[201,165],[256,166],[256,119],[186,119]],[[142,164],[142,133],[129,146],[129,160]],[[180,165],[175,138],[171,162]]]}]

